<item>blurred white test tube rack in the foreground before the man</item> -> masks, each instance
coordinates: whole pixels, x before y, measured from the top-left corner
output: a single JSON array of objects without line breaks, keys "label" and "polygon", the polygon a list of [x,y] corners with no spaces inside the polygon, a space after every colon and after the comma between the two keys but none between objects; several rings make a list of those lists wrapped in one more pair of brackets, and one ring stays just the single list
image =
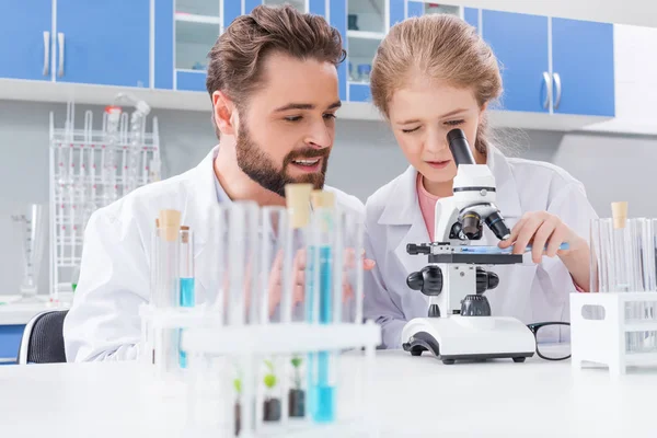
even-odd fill
[{"label": "blurred white test tube rack in the foreground before the man", "polygon": [[[185,395],[186,433],[194,437],[229,436],[234,427],[233,371],[230,364],[240,362],[244,376],[241,379],[241,430],[230,435],[237,437],[378,437],[376,401],[371,397],[376,370],[376,348],[381,343],[380,327],[372,321],[366,323],[272,323],[223,325],[217,313],[199,309],[154,309],[141,308],[143,346],[140,360],[153,377],[165,388],[177,385],[174,396]],[[174,336],[181,331],[180,348],[187,351],[188,367],[171,367],[159,350],[164,336]],[[335,355],[350,350],[353,359],[359,360],[358,367],[349,369],[349,381],[338,382],[339,388],[347,383],[354,385],[348,392],[351,396],[349,410],[339,410],[338,417],[330,424],[316,424],[310,420],[308,410],[301,418],[291,418],[289,399],[281,397],[281,418],[275,423],[263,419],[264,394],[258,391],[260,376],[256,367],[267,357],[306,356],[313,351],[328,350]],[[153,353],[154,351],[154,353]],[[339,360],[339,357],[336,357]],[[284,371],[285,372],[285,371]],[[303,373],[308,379],[308,373]],[[289,387],[281,379],[283,392]],[[184,389],[181,390],[181,385]],[[215,391],[208,388],[215,385]],[[163,387],[164,388],[164,387]],[[309,382],[303,384],[309,388]],[[208,397],[208,393],[211,395]],[[170,394],[171,395],[171,394]],[[348,399],[348,397],[347,397]],[[344,401],[344,397],[341,399]],[[218,406],[207,413],[207,405]],[[201,413],[205,411],[206,413]]]}]

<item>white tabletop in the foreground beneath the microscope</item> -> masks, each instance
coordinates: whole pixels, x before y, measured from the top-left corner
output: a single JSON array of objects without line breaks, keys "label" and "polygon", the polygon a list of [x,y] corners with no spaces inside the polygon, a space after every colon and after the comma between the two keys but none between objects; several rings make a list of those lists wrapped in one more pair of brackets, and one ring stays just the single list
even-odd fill
[{"label": "white tabletop in the foreground beneath the microscope", "polygon": [[[654,368],[614,380],[539,358],[446,366],[380,351],[377,362],[382,437],[657,436]],[[0,436],[180,437],[180,404],[151,384],[132,362],[1,367]]]}]

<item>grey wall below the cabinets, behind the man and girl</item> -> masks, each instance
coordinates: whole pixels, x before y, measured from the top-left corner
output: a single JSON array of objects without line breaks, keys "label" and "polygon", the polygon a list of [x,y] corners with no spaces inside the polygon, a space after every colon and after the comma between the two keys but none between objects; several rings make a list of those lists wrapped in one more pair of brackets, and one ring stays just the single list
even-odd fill
[{"label": "grey wall below the cabinets, behind the man and girl", "polygon": [[[88,107],[77,107],[83,120]],[[95,107],[100,123],[101,107]],[[23,203],[48,200],[48,116],[56,112],[61,126],[66,106],[0,101],[0,295],[16,293],[20,285],[20,241],[12,232],[9,215]],[[198,163],[216,143],[206,113],[158,111],[164,175],[181,173]],[[77,125],[79,126],[79,125]],[[609,203],[630,201],[632,216],[657,217],[657,203],[646,201],[656,193],[652,176],[657,162],[657,140],[597,134],[552,131],[503,132],[510,153],[554,162],[586,185],[600,215]],[[511,143],[512,147],[508,147]],[[327,184],[365,200],[368,195],[406,169],[403,154],[388,128],[378,122],[338,122],[336,146],[331,157]],[[47,254],[41,285],[48,281]]]}]

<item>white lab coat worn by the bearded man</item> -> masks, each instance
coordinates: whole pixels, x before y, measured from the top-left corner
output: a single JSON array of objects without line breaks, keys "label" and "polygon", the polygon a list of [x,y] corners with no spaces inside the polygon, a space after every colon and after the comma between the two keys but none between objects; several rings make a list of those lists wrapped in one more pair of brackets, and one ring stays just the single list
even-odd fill
[{"label": "white lab coat worn by the bearded man", "polygon": [[[214,172],[215,148],[195,169],[140,187],[96,210],[84,232],[81,276],[64,324],[69,361],[135,359],[139,351],[139,307],[149,300],[150,247],[161,209],[182,212],[194,231],[195,289],[206,295],[216,270],[206,243],[216,223],[212,204],[230,203]],[[362,214],[362,203],[332,187],[343,209]]]}]

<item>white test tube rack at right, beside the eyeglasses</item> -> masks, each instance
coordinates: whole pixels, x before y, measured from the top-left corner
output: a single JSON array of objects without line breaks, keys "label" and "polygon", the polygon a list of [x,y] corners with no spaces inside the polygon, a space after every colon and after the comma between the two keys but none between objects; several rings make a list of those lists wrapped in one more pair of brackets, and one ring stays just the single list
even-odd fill
[{"label": "white test tube rack at right, beside the eyeglasses", "polygon": [[570,293],[570,348],[574,368],[604,365],[614,377],[657,365],[657,292]]}]

